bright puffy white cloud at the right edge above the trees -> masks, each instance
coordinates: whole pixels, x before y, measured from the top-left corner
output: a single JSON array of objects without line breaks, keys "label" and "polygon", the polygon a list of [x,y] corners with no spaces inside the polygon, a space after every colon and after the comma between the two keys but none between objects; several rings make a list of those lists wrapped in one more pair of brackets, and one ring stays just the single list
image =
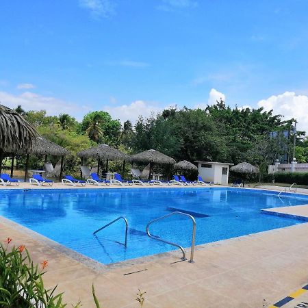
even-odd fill
[{"label": "bright puffy white cloud at the right edge above the trees", "polygon": [[264,107],[266,111],[274,110],[274,114],[281,114],[285,119],[296,118],[298,129],[308,131],[308,97],[306,95],[284,92],[262,99],[258,102],[258,106]]}]

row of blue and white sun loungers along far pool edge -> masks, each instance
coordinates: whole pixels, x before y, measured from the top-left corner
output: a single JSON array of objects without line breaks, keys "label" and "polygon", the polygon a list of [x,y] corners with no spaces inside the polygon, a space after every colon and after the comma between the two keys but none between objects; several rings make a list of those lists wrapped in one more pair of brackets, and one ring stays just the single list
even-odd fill
[{"label": "row of blue and white sun loungers along far pool edge", "polygon": [[[211,185],[212,183],[203,181],[202,177],[198,177],[197,181],[187,181],[183,175],[180,175],[178,177],[177,175],[174,175],[171,181],[164,181],[164,180],[142,180],[142,179],[133,179],[133,180],[126,180],[121,177],[120,174],[116,173],[114,175],[114,179],[108,181],[104,179],[100,179],[99,175],[97,173],[93,172],[90,175],[90,179],[87,179],[87,181],[75,179],[71,175],[64,175],[64,178],[62,179],[63,184],[73,185],[80,184],[82,186],[86,184],[92,184],[92,185],[110,185],[110,184],[116,184],[116,185]],[[30,184],[36,184],[36,185],[44,185],[46,183],[47,185],[52,186],[53,181],[50,179],[44,179],[41,175],[33,175],[31,179],[29,179]],[[12,179],[9,175],[6,173],[1,173],[0,175],[0,184],[2,185],[19,185],[20,181],[17,179]]]}]

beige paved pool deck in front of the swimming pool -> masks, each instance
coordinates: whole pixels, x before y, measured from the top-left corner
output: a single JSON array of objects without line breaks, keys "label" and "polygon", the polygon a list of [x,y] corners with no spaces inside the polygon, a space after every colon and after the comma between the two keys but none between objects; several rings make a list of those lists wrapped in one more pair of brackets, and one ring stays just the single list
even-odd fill
[{"label": "beige paved pool deck in front of the swimming pool", "polygon": [[[308,217],[308,205],[275,210]],[[307,223],[196,246],[194,264],[179,262],[175,251],[104,266],[1,217],[0,232],[1,240],[25,244],[36,263],[49,261],[44,283],[57,284],[68,307],[78,300],[95,307],[92,283],[107,308],[140,307],[138,289],[146,292],[143,308],[279,307],[274,304],[292,294],[295,299],[281,307],[308,303],[308,292],[300,291],[308,283]]]}]

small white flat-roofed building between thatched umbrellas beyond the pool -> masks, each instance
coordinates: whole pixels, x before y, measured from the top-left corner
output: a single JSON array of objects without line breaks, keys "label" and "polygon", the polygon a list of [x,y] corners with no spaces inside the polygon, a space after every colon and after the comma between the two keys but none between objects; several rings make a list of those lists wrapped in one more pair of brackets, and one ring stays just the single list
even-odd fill
[{"label": "small white flat-roofed building between thatched umbrellas beyond the pool", "polygon": [[233,164],[220,162],[196,162],[198,163],[198,175],[204,181],[215,184],[228,185],[229,168]]}]

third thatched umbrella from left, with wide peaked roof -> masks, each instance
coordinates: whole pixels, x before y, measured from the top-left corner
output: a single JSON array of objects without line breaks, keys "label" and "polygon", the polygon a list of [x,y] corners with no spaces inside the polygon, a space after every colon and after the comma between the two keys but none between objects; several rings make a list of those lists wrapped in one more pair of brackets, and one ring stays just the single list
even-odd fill
[{"label": "third thatched umbrella from left, with wide peaked roof", "polygon": [[112,146],[107,144],[99,144],[98,146],[93,146],[90,149],[80,151],[77,153],[81,160],[84,158],[97,158],[97,172],[99,173],[99,165],[101,159],[106,160],[106,170],[108,169],[108,161],[110,160],[123,160],[123,170],[125,168],[125,160],[129,159],[129,155],[114,149]]}]

